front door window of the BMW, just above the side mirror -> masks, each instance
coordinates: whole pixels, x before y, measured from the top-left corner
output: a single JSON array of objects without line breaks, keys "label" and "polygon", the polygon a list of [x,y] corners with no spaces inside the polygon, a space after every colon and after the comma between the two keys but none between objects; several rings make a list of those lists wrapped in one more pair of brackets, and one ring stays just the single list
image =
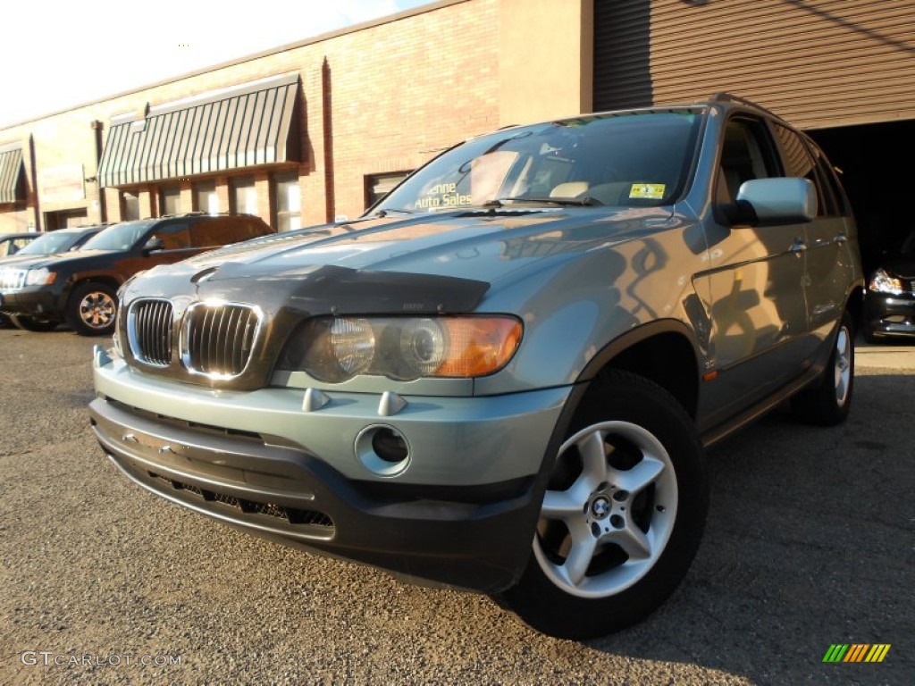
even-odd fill
[{"label": "front door window of the BMW, just above the side mirror", "polygon": [[725,126],[716,199],[733,202],[740,184],[754,178],[778,176],[770,135],[759,120],[735,117]]}]

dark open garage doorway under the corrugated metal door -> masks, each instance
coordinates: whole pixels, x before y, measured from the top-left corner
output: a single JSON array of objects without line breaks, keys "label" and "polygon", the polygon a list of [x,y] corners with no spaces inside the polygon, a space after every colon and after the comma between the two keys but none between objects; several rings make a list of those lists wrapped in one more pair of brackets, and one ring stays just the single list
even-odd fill
[{"label": "dark open garage doorway under the corrugated metal door", "polygon": [[906,157],[915,120],[817,129],[808,134],[823,147],[855,210],[866,277],[883,255],[899,251],[912,229],[908,199],[915,168]]}]

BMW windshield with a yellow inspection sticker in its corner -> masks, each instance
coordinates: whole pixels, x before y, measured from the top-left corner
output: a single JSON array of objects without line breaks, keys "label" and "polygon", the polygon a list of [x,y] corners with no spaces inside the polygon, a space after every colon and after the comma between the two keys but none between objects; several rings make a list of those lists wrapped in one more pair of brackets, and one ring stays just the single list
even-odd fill
[{"label": "BMW windshield with a yellow inspection sticker in its corner", "polygon": [[703,112],[596,115],[481,136],[436,157],[373,211],[669,204],[684,191]]}]

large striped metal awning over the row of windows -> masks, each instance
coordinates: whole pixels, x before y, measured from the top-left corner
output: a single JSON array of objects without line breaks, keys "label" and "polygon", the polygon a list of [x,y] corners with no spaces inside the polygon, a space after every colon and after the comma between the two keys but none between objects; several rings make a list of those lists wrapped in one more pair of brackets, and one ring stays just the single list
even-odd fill
[{"label": "large striped metal awning over the row of windows", "polygon": [[298,161],[298,74],[202,93],[112,119],[102,186]]}]

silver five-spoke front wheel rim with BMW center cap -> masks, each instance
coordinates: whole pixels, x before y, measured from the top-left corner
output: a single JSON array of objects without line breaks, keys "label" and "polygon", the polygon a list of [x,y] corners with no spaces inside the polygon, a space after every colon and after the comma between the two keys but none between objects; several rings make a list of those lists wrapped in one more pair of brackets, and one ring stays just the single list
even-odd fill
[{"label": "silver five-spoke front wheel rim with BMW center cap", "polygon": [[559,450],[533,552],[544,574],[571,595],[604,597],[636,583],[673,531],[677,480],[661,442],[628,422],[587,426]]}]

